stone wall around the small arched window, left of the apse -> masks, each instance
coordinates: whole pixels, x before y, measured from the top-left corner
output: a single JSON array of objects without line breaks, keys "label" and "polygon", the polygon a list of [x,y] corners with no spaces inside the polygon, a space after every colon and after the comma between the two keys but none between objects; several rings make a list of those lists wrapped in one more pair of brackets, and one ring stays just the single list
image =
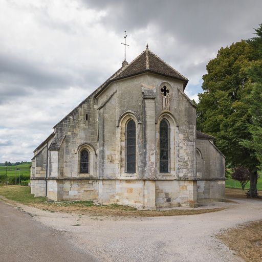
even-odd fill
[{"label": "stone wall around the small arched window, left of the apse", "polygon": [[[86,115],[88,120],[86,120]],[[98,150],[97,122],[96,99],[89,97],[57,124],[55,127],[55,139],[65,135],[58,151],[59,156],[57,156],[59,160],[59,166],[57,166],[58,177],[75,178],[79,176],[78,149],[81,145],[89,144],[94,149],[94,152]],[[93,176],[96,177],[97,174],[93,174]]]}]

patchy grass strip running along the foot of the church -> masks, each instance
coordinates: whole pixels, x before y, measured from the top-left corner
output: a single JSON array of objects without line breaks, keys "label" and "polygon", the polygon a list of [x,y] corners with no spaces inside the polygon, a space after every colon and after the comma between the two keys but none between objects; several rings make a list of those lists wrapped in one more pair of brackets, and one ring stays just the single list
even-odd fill
[{"label": "patchy grass strip running along the foot of the church", "polygon": [[77,214],[85,214],[90,216],[126,216],[126,217],[141,217],[141,216],[172,216],[172,215],[193,215],[215,211],[221,211],[225,208],[212,209],[170,209],[170,210],[138,210],[135,207],[123,205],[96,205],[93,201],[63,201],[47,203],[44,197],[33,197],[30,194],[30,187],[9,186],[0,187],[0,195],[3,197],[19,202],[24,205],[48,210],[49,212],[74,212]]}]

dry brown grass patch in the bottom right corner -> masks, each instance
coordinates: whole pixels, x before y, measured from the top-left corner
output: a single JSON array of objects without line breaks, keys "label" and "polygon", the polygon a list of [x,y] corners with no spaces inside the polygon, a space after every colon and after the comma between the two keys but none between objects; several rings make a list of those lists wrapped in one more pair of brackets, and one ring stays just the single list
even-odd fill
[{"label": "dry brown grass patch in the bottom right corner", "polygon": [[245,261],[262,261],[262,221],[229,229],[217,237]]}]

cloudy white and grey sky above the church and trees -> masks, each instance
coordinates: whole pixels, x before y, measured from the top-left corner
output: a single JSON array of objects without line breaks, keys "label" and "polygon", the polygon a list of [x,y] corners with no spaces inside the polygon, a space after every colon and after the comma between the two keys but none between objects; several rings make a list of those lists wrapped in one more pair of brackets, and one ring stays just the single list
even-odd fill
[{"label": "cloudy white and grey sky above the church and trees", "polygon": [[149,50],[189,79],[198,101],[206,64],[254,36],[262,1],[0,0],[0,163],[30,161],[52,127],[124,60]]}]

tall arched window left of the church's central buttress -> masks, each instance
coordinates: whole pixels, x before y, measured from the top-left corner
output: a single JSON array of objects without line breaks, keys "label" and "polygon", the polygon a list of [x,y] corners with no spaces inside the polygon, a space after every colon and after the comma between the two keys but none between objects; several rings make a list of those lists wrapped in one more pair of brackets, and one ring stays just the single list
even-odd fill
[{"label": "tall arched window left of the church's central buttress", "polygon": [[126,124],[125,171],[127,173],[136,172],[136,124],[132,119]]}]

